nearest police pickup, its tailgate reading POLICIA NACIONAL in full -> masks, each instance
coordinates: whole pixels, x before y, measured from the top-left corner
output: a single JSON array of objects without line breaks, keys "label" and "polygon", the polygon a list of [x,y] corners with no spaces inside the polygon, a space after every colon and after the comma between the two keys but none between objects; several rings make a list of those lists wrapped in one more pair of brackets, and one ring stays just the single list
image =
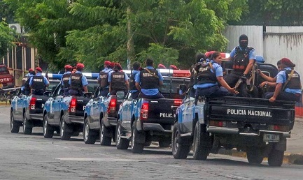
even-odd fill
[{"label": "nearest police pickup, its tailgate reading POLICIA NACIONAL in full", "polygon": [[[278,73],[268,63],[258,66],[271,77]],[[257,79],[259,84],[264,81]],[[237,148],[246,152],[249,163],[260,164],[268,157],[269,165],[281,166],[294,121],[295,102],[234,96],[195,100],[186,96],[176,110],[173,156],[186,158],[192,147],[194,159],[206,160],[209,153],[221,148]]]}]

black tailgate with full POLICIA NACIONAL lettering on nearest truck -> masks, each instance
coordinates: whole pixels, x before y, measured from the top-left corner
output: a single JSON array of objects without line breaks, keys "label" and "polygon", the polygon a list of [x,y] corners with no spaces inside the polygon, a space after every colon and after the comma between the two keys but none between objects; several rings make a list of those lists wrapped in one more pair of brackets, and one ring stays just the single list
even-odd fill
[{"label": "black tailgate with full POLICIA NACIONAL lettering on nearest truck", "polygon": [[209,100],[206,108],[209,119],[218,121],[293,125],[295,120],[295,103],[288,101],[270,103],[257,98],[217,98]]}]

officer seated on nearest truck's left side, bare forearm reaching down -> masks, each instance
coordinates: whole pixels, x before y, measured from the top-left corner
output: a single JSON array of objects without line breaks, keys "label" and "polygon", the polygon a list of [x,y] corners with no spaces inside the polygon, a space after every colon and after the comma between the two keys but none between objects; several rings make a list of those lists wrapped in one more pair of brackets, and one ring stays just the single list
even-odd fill
[{"label": "officer seated on nearest truck's left side, bare forearm reaching down", "polygon": [[195,66],[197,71],[194,84],[196,98],[199,96],[232,96],[232,93],[238,93],[235,88],[231,88],[223,79],[223,68],[220,66],[221,60],[220,53],[213,52],[211,61],[197,63]]}]

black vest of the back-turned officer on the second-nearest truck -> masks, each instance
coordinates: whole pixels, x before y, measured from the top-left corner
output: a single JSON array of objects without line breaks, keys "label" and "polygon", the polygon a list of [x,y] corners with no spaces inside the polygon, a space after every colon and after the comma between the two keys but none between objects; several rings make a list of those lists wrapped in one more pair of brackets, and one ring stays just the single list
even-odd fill
[{"label": "black vest of the back-turned officer on the second-nearest truck", "polygon": [[[159,74],[155,69],[146,69],[140,71],[140,80],[142,89],[157,89],[159,88]],[[158,77],[155,77],[157,75]]]}]

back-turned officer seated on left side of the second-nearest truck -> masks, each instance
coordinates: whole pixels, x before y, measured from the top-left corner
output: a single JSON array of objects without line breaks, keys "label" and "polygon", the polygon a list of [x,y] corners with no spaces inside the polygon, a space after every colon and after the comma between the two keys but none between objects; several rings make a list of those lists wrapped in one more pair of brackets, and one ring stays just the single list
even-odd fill
[{"label": "back-turned officer seated on left side of the second-nearest truck", "polygon": [[163,77],[153,68],[153,59],[146,59],[146,68],[136,77],[136,88],[141,92],[139,98],[164,98],[159,92],[159,86],[162,85]]}]

